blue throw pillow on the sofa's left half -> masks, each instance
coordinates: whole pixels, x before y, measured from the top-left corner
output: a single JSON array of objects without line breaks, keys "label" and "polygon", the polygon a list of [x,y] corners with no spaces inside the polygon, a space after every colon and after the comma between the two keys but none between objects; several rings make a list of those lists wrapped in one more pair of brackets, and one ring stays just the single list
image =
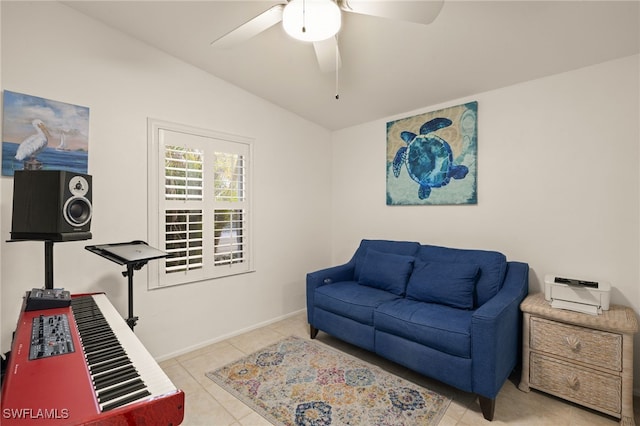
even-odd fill
[{"label": "blue throw pillow on the sofa's left half", "polygon": [[360,268],[358,284],[404,296],[413,270],[413,256],[369,249]]}]

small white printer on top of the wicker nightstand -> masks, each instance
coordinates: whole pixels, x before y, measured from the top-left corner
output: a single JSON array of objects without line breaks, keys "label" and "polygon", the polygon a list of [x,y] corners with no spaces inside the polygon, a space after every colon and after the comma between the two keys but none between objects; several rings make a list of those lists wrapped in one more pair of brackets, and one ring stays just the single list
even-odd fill
[{"label": "small white printer on top of the wicker nightstand", "polygon": [[545,275],[544,298],[559,309],[598,315],[609,310],[611,284]]}]

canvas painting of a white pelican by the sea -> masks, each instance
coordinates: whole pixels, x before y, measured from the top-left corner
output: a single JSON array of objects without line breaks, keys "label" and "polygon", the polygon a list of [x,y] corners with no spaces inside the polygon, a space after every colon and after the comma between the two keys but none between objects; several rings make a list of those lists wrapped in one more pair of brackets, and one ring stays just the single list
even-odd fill
[{"label": "canvas painting of a white pelican by the sea", "polygon": [[2,175],[16,170],[87,173],[89,108],[4,91]]}]

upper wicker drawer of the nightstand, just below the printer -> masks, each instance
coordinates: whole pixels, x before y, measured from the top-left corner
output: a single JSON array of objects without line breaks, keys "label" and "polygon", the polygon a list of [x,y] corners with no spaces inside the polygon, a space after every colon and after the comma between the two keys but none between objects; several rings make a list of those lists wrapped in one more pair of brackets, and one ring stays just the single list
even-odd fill
[{"label": "upper wicker drawer of the nightstand, just below the printer", "polygon": [[531,317],[531,349],[622,371],[622,335]]}]

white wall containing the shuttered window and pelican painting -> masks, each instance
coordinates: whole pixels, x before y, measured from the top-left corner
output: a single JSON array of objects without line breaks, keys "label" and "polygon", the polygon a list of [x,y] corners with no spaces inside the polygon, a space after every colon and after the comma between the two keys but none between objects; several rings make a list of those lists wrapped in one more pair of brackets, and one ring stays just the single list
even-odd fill
[{"label": "white wall containing the shuttered window and pelican painting", "polygon": [[[255,139],[256,272],[147,291],[143,268],[134,276],[138,337],[164,358],[304,309],[306,272],[330,260],[330,132],[62,4],[0,5],[2,89],[90,108],[93,239],[55,245],[55,285],[105,291],[126,316],[124,268],[84,246],[148,239],[146,126],[154,117]],[[42,243],[5,243],[12,182],[0,180],[3,351],[24,291],[44,276]]]}]

